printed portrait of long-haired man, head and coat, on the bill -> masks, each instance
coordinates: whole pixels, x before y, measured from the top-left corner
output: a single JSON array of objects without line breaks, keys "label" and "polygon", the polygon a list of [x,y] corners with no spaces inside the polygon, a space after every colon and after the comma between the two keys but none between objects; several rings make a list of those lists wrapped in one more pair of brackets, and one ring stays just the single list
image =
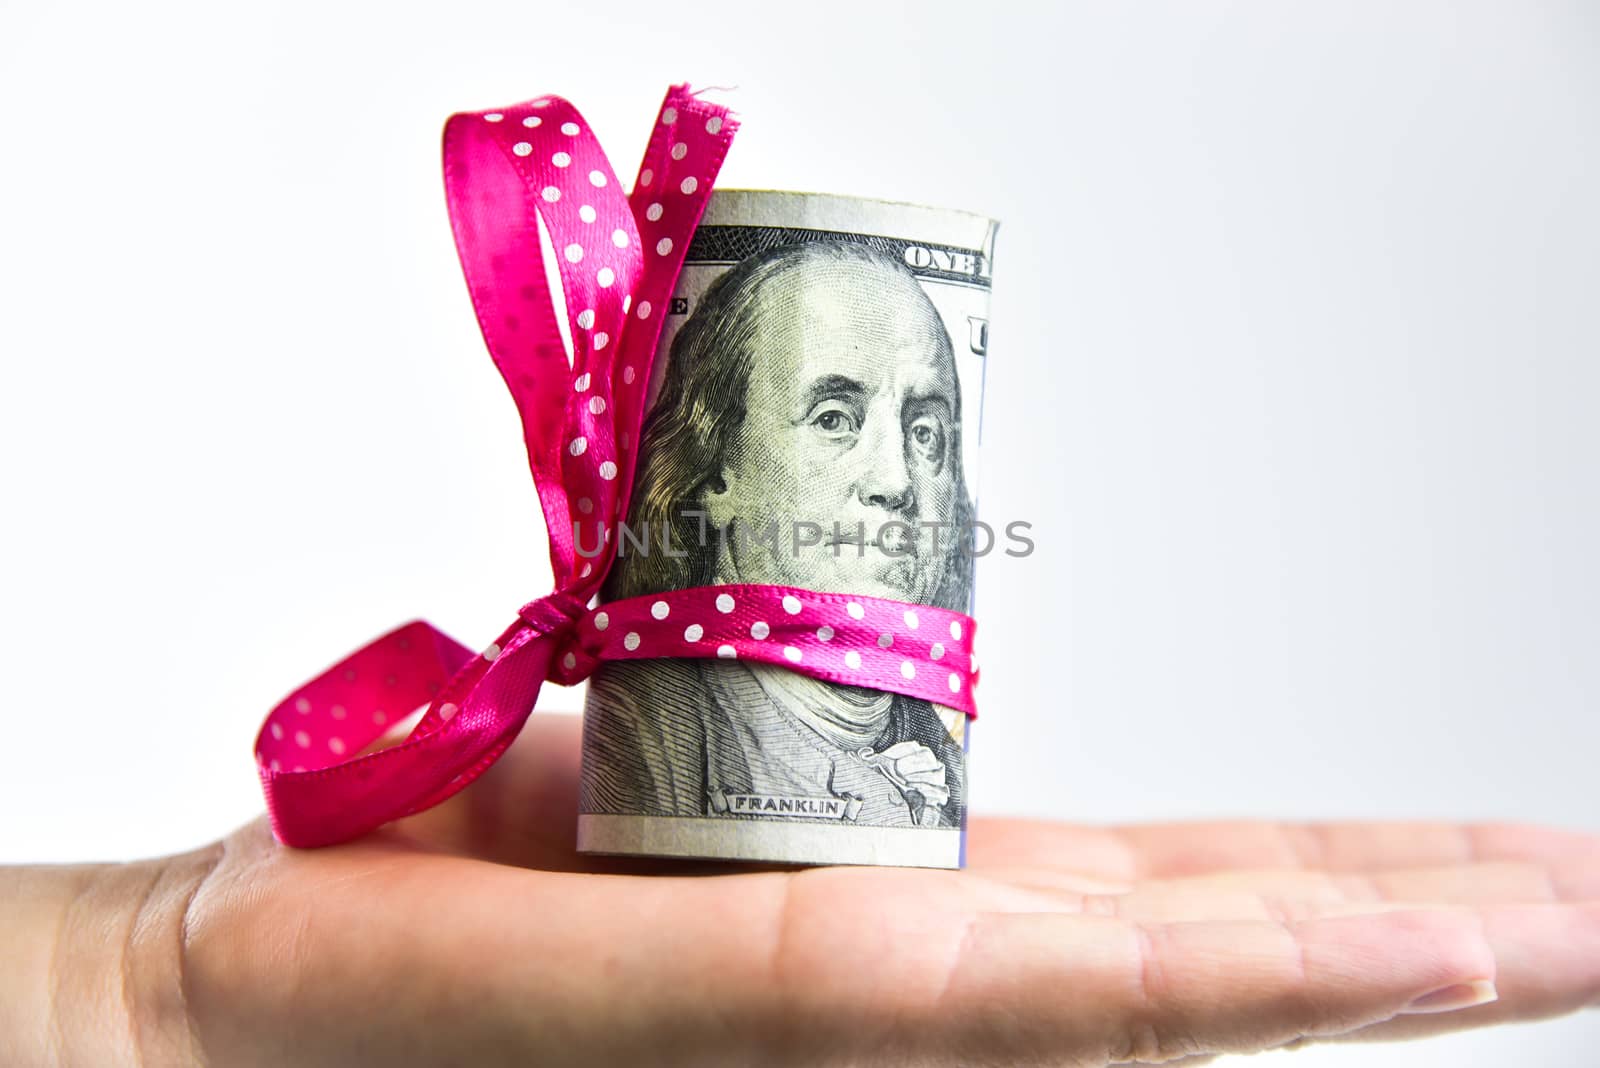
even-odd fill
[{"label": "printed portrait of long-haired man, head and coat, on the bill", "polygon": [[[723,273],[677,333],[629,524],[670,528],[678,552],[621,555],[605,598],[755,582],[965,612],[970,521],[955,357],[922,285],[862,243],[786,245]],[[797,547],[795,524],[819,540]],[[626,660],[590,681],[584,729],[582,812],[715,817],[757,795],[848,799],[858,825],[963,822],[962,745],[898,694]]]}]

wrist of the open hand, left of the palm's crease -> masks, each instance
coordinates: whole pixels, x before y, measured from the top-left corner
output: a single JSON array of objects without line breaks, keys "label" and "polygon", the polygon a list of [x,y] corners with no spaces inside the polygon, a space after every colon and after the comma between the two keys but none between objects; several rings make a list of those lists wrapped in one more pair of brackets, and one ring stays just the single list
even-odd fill
[{"label": "wrist of the open hand, left of the palm's crease", "polygon": [[0,868],[0,1034],[16,1063],[202,1063],[184,918],[213,851]]}]

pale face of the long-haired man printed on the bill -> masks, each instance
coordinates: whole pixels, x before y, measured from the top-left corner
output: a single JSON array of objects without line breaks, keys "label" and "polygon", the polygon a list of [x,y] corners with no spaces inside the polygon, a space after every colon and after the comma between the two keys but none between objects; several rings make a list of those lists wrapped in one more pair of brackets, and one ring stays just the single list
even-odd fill
[{"label": "pale face of the long-haired man printed on the bill", "polygon": [[[763,296],[792,313],[760,320],[747,416],[704,508],[722,529],[776,521],[779,545],[728,539],[722,569],[739,582],[928,603],[942,558],[917,523],[954,518],[960,462],[955,363],[938,312],[914,280],[874,264],[766,285]],[[795,523],[821,528],[821,544],[795,547]],[[845,539],[864,524],[867,544],[835,545],[835,523]]]}]

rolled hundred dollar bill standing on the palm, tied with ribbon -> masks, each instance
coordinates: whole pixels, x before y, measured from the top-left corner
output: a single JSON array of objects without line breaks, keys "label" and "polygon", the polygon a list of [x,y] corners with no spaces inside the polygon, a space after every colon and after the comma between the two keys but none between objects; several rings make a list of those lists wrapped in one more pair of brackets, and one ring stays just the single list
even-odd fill
[{"label": "rolled hundred dollar bill standing on the palm, tied with ribbon", "polygon": [[[757,582],[970,614],[994,238],[965,213],[718,190],[626,516],[674,552],[619,553],[603,598]],[[966,750],[965,716],[923,700],[744,660],[611,662],[589,683],[578,847],[955,868]]]}]

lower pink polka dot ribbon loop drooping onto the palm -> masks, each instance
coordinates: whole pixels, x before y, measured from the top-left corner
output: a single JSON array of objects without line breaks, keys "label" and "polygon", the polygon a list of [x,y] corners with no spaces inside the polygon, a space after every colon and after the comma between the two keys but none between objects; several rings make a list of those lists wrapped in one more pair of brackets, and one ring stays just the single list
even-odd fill
[{"label": "lower pink polka dot ribbon loop drooping onto the palm", "polygon": [[[274,835],[298,847],[342,843],[464,788],[515,740],[557,644],[518,622],[478,656],[414,622],[307,683],[256,740]],[[403,742],[360,751],[422,703]]]}]

